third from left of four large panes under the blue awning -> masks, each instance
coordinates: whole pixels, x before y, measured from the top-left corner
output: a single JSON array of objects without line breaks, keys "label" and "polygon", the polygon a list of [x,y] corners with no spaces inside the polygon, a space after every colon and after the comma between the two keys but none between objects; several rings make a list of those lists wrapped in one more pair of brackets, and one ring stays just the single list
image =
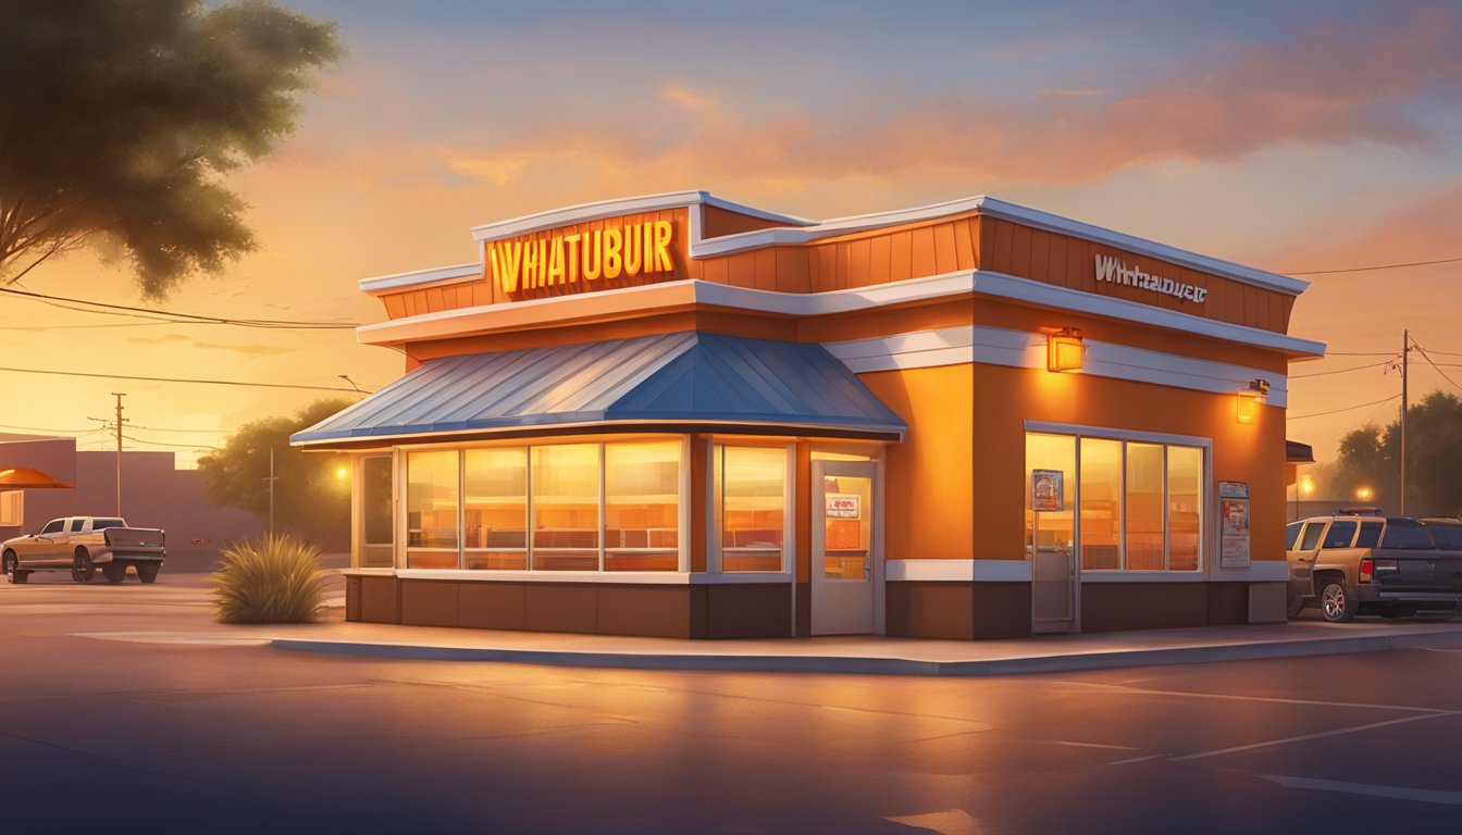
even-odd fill
[{"label": "third from left of four large panes under the blue awning", "polygon": [[532,447],[534,569],[599,570],[599,445]]}]

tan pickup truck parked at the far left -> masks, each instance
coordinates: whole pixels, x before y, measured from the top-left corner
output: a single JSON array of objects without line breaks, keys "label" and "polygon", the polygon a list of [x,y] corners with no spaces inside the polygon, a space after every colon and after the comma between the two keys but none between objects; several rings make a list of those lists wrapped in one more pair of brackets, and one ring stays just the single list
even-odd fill
[{"label": "tan pickup truck parked at the far left", "polygon": [[129,528],[117,516],[66,516],[51,519],[39,534],[0,543],[0,567],[13,583],[32,572],[70,570],[72,579],[91,582],[101,567],[108,582],[120,583],[127,567],[151,583],[167,557],[167,535],[156,528]]}]

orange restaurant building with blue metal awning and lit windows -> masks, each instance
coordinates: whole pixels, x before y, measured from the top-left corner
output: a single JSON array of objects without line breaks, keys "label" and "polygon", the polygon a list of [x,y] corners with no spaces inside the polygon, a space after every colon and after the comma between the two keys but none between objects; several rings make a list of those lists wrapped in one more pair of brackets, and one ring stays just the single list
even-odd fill
[{"label": "orange restaurant building with blue metal awning and lit windows", "polygon": [[361,281],[404,377],[346,617],[678,638],[1284,620],[1306,282],[993,197],[832,221],[705,192],[472,230]]}]

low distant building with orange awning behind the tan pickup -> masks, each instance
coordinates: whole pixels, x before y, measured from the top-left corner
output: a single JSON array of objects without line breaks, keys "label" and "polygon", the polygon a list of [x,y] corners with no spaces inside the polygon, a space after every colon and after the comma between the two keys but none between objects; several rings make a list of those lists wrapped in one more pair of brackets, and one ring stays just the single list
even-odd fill
[{"label": "low distant building with orange awning behind the tan pickup", "polygon": [[[7,466],[34,466],[76,488],[0,491],[0,540],[35,532],[57,516],[117,512],[115,452],[79,450],[75,437],[0,433],[0,469]],[[121,515],[139,528],[167,531],[170,554],[216,551],[263,531],[253,513],[211,505],[203,474],[178,469],[171,452],[121,453]]]}]

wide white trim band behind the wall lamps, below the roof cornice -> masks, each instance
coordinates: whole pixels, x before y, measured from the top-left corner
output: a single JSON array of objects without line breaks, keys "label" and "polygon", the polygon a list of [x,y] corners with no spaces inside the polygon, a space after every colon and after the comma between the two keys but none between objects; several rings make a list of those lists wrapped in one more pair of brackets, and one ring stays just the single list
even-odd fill
[{"label": "wide white trim band behind the wall lamps, below the roof cornice", "polygon": [[[823,342],[823,347],[854,373],[963,363],[1045,369],[1047,361],[1042,333],[985,325]],[[1250,380],[1262,379],[1269,383],[1269,405],[1284,408],[1288,404],[1287,374],[1096,339],[1086,339],[1080,373],[1212,393],[1235,393],[1249,388]]]}]

